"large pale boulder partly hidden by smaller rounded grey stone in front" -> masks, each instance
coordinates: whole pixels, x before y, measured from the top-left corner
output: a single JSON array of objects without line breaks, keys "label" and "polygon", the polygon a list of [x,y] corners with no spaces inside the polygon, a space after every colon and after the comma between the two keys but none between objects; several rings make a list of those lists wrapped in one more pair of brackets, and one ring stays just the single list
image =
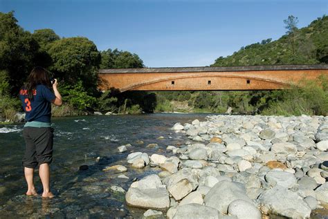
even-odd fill
[{"label": "large pale boulder partly hidden by smaller rounded grey stone in front", "polygon": [[206,206],[213,207],[221,213],[227,213],[229,204],[235,200],[245,200],[252,203],[252,200],[246,195],[243,184],[226,180],[215,184],[204,198]]}]

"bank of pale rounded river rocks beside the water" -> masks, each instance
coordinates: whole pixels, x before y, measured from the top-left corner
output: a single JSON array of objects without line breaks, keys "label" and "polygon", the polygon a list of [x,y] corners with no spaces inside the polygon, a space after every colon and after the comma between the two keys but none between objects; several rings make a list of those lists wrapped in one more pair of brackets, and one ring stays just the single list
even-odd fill
[{"label": "bank of pale rounded river rocks beside the water", "polygon": [[190,140],[168,145],[171,156],[127,156],[134,168],[162,170],[125,194],[129,206],[148,209],[144,218],[309,218],[327,208],[328,117],[213,115],[172,128]]}]

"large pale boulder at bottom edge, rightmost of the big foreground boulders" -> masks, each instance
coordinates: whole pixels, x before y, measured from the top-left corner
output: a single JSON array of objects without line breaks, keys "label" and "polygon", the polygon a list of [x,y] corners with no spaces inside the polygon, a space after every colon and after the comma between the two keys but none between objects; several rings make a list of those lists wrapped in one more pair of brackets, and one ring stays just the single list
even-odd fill
[{"label": "large pale boulder at bottom edge, rightmost of the big foreground boulders", "polygon": [[309,218],[311,214],[301,196],[281,186],[264,191],[257,200],[271,213],[288,218]]}]

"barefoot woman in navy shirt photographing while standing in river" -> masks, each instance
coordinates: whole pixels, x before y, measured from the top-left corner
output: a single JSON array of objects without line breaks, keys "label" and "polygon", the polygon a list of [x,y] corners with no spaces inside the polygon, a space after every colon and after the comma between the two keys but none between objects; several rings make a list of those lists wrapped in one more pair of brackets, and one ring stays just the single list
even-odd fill
[{"label": "barefoot woman in navy shirt photographing while standing in river", "polygon": [[[57,79],[51,82],[48,71],[35,67],[21,88],[19,97],[26,112],[23,136],[26,150],[23,159],[24,174],[28,184],[27,196],[37,196],[33,182],[34,169],[39,165],[39,176],[44,191],[42,198],[53,198],[50,190],[50,168],[53,160],[53,128],[51,128],[51,103],[62,105],[57,90]],[[53,87],[53,92],[51,91]]]}]

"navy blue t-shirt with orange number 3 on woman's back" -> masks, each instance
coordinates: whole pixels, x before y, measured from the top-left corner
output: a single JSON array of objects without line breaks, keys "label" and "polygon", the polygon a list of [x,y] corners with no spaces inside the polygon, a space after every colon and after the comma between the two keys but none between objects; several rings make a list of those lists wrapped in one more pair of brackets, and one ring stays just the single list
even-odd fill
[{"label": "navy blue t-shirt with orange number 3 on woman's back", "polygon": [[56,96],[48,87],[42,84],[37,85],[33,91],[32,100],[28,99],[27,90],[22,88],[19,92],[19,98],[26,112],[25,120],[27,122],[51,122],[51,103]]}]

